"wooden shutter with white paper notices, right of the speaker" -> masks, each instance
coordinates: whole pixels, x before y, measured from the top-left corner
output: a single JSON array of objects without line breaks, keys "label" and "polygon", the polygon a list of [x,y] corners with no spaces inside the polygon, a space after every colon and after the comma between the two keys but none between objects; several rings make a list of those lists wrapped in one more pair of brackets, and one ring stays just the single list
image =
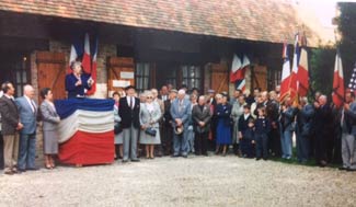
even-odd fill
[{"label": "wooden shutter with white paper notices, right of the speaker", "polygon": [[135,85],[134,58],[110,57],[107,60],[107,95],[125,85]]}]

